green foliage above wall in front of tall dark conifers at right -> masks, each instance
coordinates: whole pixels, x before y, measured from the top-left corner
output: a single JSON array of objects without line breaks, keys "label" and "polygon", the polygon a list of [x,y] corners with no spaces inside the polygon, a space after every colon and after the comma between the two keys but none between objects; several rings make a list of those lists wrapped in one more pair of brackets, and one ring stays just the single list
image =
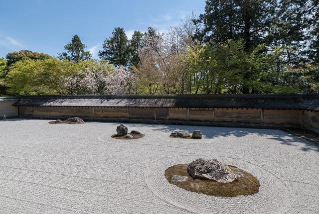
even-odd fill
[{"label": "green foliage above wall in front of tall dark conifers at right", "polygon": [[184,62],[195,77],[192,93],[241,94],[246,88],[249,93],[295,92],[281,84],[283,73],[276,67],[280,52],[268,53],[260,45],[246,53],[243,40],[189,49]]}]

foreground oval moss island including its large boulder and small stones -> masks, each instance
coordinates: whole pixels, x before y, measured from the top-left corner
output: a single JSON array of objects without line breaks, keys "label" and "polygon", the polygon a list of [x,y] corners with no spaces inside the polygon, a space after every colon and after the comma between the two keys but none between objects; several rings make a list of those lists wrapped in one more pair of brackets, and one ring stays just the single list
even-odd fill
[{"label": "foreground oval moss island including its large boulder and small stones", "polygon": [[190,192],[217,197],[253,195],[259,181],[248,172],[217,159],[199,158],[190,164],[177,164],[165,171],[167,181]]}]

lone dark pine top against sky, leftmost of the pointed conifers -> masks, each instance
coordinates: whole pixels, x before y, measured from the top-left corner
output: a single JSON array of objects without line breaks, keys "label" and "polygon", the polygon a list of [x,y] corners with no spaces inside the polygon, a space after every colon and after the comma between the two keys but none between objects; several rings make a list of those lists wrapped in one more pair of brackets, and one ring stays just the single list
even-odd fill
[{"label": "lone dark pine top against sky, leftmost of the pointed conifers", "polygon": [[64,46],[66,52],[60,53],[60,59],[67,59],[69,61],[78,63],[91,59],[90,51],[84,51],[86,46],[82,43],[78,35],[74,35],[71,42]]}]

